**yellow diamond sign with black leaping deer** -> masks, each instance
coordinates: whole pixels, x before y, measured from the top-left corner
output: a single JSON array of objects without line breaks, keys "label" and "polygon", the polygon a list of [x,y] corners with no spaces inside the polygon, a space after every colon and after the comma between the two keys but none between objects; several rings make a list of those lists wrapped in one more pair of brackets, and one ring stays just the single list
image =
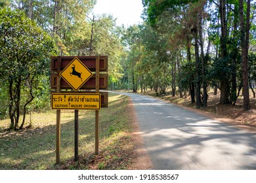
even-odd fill
[{"label": "yellow diamond sign with black leaping deer", "polygon": [[93,73],[91,73],[78,58],[74,58],[70,64],[60,72],[60,76],[77,91],[93,76]]}]

